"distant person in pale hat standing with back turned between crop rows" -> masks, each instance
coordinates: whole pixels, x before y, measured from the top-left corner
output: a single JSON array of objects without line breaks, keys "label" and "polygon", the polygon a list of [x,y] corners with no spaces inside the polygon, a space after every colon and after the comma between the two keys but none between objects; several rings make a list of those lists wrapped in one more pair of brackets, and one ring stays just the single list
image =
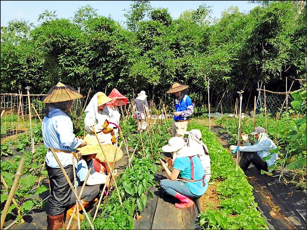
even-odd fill
[{"label": "distant person in pale hat standing with back turned between crop rows", "polygon": [[138,131],[145,131],[147,128],[146,117],[149,115],[147,95],[144,90],[142,90],[138,97],[134,100],[134,106],[132,111],[136,114],[138,121]]}]

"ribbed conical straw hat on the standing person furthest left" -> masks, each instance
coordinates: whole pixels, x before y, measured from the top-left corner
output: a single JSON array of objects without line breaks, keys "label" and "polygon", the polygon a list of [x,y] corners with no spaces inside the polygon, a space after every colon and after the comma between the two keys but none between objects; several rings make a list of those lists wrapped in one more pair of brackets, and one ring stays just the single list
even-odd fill
[{"label": "ribbed conical straw hat on the standing person furthest left", "polygon": [[76,89],[68,85],[64,85],[58,82],[56,86],[53,86],[49,92],[48,96],[43,100],[43,103],[56,103],[63,101],[72,101],[75,99],[82,98],[83,96],[78,93]]}]

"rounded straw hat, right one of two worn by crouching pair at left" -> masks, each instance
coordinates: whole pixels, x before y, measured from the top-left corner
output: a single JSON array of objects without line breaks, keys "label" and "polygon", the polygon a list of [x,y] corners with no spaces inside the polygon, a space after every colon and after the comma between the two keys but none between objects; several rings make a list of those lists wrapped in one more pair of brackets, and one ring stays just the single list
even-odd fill
[{"label": "rounded straw hat, right one of two worn by crouching pair at left", "polygon": [[[107,161],[104,157],[104,154],[102,153],[100,149],[100,152],[98,152],[96,155],[96,158],[99,159],[100,162],[114,163],[114,162],[118,162],[124,156],[123,151],[115,145],[111,145],[111,144],[102,145],[102,149],[106,156]],[[116,154],[116,158],[114,160],[115,154]]]}]

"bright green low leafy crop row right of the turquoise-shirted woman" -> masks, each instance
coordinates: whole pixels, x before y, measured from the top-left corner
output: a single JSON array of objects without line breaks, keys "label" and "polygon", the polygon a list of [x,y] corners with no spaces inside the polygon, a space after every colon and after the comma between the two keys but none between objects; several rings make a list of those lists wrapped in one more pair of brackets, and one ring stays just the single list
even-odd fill
[{"label": "bright green low leafy crop row right of the turquoise-shirted woman", "polygon": [[204,210],[200,214],[201,226],[205,229],[265,229],[265,219],[255,210],[257,203],[253,188],[242,169],[235,166],[231,153],[218,143],[214,134],[196,121],[189,129],[201,130],[202,140],[210,152],[211,178],[221,181],[216,189],[220,207]]}]

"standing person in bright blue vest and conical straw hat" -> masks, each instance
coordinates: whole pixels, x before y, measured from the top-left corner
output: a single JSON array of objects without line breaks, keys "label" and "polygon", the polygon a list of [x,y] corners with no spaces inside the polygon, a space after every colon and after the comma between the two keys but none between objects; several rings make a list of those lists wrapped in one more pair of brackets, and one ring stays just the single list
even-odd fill
[{"label": "standing person in bright blue vest and conical straw hat", "polygon": [[173,94],[175,97],[174,105],[175,112],[173,113],[173,123],[171,125],[171,136],[183,137],[184,132],[187,131],[189,117],[194,112],[194,105],[189,96],[187,96],[186,89],[189,86],[182,85],[178,82],[172,84],[167,94]]}]

